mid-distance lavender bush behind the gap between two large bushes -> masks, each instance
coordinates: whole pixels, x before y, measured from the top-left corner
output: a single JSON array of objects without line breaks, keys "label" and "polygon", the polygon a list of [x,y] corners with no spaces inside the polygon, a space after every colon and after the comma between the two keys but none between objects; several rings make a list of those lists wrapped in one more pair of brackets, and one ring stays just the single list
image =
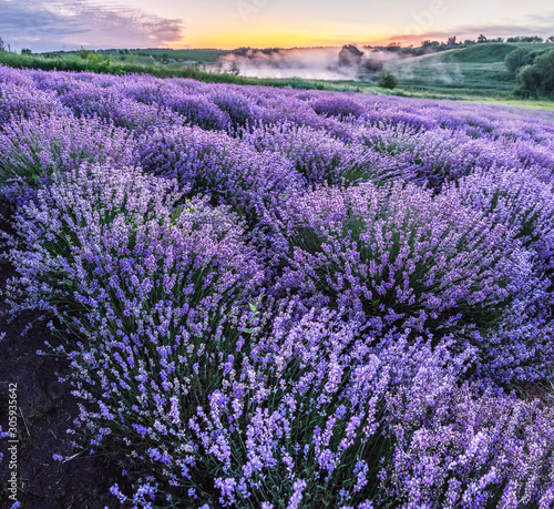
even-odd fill
[{"label": "mid-distance lavender bush behind the gap between two large bushes", "polygon": [[285,157],[258,153],[224,133],[198,128],[151,131],[140,139],[134,161],[189,186],[192,195],[209,194],[215,204],[233,205],[258,218],[302,186]]}]

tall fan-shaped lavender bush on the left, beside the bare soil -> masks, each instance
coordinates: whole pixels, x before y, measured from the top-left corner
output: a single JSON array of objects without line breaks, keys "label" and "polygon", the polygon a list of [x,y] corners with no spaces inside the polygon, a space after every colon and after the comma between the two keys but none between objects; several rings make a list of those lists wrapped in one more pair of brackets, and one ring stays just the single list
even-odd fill
[{"label": "tall fan-shaped lavender bush on the left, beside the bare soil", "polygon": [[69,358],[93,444],[113,434],[125,447],[133,436],[134,455],[154,465],[175,432],[175,454],[191,447],[171,428],[219,386],[219,364],[236,348],[232,325],[244,327],[260,278],[233,217],[201,201],[174,208],[178,196],[140,171],[82,166],[57,175],[14,220],[13,259],[34,259],[10,288],[14,308],[50,312],[81,338]]}]

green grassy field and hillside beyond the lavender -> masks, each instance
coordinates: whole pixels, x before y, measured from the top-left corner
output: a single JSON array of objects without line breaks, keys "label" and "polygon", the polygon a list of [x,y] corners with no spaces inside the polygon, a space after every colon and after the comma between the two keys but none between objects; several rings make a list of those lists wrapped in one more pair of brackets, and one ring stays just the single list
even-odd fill
[{"label": "green grassy field and hillside beyond the lavender", "polygon": [[[257,79],[229,73],[209,72],[220,55],[228,53],[214,49],[147,49],[105,50],[95,54],[99,61],[86,61],[78,52],[59,52],[48,55],[18,55],[0,52],[0,64],[62,71],[109,72],[112,74],[148,73],[158,78],[192,78],[203,82],[259,84],[277,88],[347,91],[389,94],[424,99],[450,99],[479,103],[495,103],[538,110],[554,110],[547,99],[523,100],[515,98],[514,78],[506,71],[504,59],[516,48],[550,48],[552,44],[483,43],[423,57],[389,61],[386,69],[399,79],[399,86],[384,91],[370,81],[324,81],[288,79]],[[376,74],[377,81],[378,74]]]}]

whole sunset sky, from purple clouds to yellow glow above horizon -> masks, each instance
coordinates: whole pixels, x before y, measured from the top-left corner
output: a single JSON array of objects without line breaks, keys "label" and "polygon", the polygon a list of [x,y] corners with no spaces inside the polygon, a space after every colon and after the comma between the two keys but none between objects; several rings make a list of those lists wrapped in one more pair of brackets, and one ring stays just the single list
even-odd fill
[{"label": "whole sunset sky, from purple clouds to yellow glow above horizon", "polygon": [[34,52],[101,48],[420,45],[554,35],[553,0],[0,0],[0,38]]}]

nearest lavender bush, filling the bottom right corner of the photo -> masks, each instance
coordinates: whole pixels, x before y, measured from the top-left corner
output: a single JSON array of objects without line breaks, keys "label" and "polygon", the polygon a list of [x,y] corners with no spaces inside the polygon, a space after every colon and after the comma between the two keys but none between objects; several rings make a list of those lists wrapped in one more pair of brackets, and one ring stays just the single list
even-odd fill
[{"label": "nearest lavender bush, filling the bottom right corner of the photo", "polygon": [[215,505],[552,502],[552,413],[459,386],[471,349],[452,357],[447,344],[406,338],[372,349],[332,313],[291,329],[287,318],[191,423],[203,470],[220,476]]}]

